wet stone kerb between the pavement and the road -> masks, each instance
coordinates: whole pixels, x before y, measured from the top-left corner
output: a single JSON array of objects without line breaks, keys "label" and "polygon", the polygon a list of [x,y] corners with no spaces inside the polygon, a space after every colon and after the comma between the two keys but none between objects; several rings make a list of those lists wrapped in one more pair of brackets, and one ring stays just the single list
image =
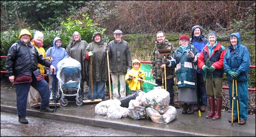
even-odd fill
[{"label": "wet stone kerb between the pavement and the road", "polygon": [[[1,111],[17,113],[17,108],[13,106],[1,105]],[[189,131],[182,131],[182,130],[175,130],[175,129],[161,129],[157,127],[150,127],[150,126],[140,126],[138,124],[131,124],[131,123],[124,123],[124,122],[116,122],[110,120],[100,120],[100,119],[91,119],[91,118],[84,118],[84,117],[74,117],[71,115],[61,115],[59,113],[48,113],[48,112],[40,112],[36,110],[27,109],[27,115],[38,117],[38,118],[45,118],[45,119],[53,119],[59,121],[66,121],[66,122],[73,122],[79,124],[86,124],[90,126],[97,126],[102,128],[113,128],[118,130],[125,130],[125,131],[132,131],[141,134],[152,134],[157,136],[220,136],[216,134],[205,134],[205,133],[198,133],[198,132],[189,132]]]}]

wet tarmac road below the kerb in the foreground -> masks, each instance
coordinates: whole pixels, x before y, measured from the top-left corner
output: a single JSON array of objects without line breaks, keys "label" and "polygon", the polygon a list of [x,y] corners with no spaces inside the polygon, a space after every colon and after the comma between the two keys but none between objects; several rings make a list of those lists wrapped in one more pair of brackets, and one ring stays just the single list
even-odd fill
[{"label": "wet tarmac road below the kerb in the foreground", "polygon": [[29,124],[20,124],[15,113],[1,111],[1,136],[152,136],[32,116],[27,119]]}]

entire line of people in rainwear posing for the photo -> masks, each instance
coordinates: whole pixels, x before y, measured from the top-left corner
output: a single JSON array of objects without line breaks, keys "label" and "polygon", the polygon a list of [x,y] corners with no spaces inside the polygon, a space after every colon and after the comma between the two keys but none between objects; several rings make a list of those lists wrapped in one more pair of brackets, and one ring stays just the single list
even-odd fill
[{"label": "entire line of people in rainwear posing for the photo", "polygon": [[[53,112],[53,109],[49,108],[49,100],[56,94],[57,63],[63,58],[70,57],[81,63],[79,96],[82,99],[85,99],[84,82],[89,86],[88,99],[104,99],[105,83],[108,81],[109,73],[114,99],[121,100],[126,96],[125,82],[129,84],[132,93],[143,90],[145,73],[140,69],[141,63],[138,59],[132,61],[130,47],[123,40],[122,34],[121,30],[114,31],[115,39],[106,43],[102,34],[95,32],[92,42],[88,44],[87,41],[81,40],[79,32],[74,32],[66,49],[61,48],[61,38],[55,37],[53,47],[45,51],[42,48],[44,44],[41,32],[37,31],[34,39],[30,41],[32,37],[30,32],[26,29],[20,31],[18,41],[12,44],[6,59],[9,80],[14,82],[16,88],[18,121],[28,124],[26,119],[28,94],[32,107],[40,107],[40,111],[43,112]],[[222,82],[225,72],[229,80],[230,102],[232,101],[232,80],[238,82],[239,124],[245,124],[248,111],[247,82],[250,60],[247,48],[241,44],[239,33],[230,35],[230,46],[227,50],[217,41],[215,32],[209,33],[205,38],[202,28],[197,25],[192,28],[191,34],[191,38],[187,35],[180,36],[177,50],[165,39],[164,32],[160,31],[156,34],[157,41],[151,59],[151,73],[157,86],[163,86],[166,82],[165,89],[170,96],[169,105],[174,106],[173,86],[176,77],[179,88],[177,102],[183,103],[182,113],[191,114],[198,109],[205,111],[208,98],[210,112],[206,118],[218,120],[221,118]],[[166,50],[168,53],[163,55],[159,52],[161,50]],[[108,65],[110,71],[108,71]],[[44,66],[50,67],[50,71],[47,71],[50,75],[50,86],[42,78],[42,74],[45,74]],[[118,82],[120,89],[118,89]],[[51,88],[53,92],[50,98]],[[234,104],[236,106],[236,103]],[[234,107],[233,122],[238,121],[236,108]]]}]

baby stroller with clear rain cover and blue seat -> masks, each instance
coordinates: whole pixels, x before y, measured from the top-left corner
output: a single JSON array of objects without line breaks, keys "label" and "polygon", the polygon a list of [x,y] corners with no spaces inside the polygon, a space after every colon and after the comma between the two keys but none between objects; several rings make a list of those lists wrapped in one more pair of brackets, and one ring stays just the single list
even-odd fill
[{"label": "baby stroller with clear rain cover and blue seat", "polygon": [[57,64],[58,72],[58,92],[57,100],[60,100],[62,106],[68,105],[68,100],[75,100],[76,105],[82,105],[82,99],[79,97],[81,64],[73,58],[65,58]]}]

